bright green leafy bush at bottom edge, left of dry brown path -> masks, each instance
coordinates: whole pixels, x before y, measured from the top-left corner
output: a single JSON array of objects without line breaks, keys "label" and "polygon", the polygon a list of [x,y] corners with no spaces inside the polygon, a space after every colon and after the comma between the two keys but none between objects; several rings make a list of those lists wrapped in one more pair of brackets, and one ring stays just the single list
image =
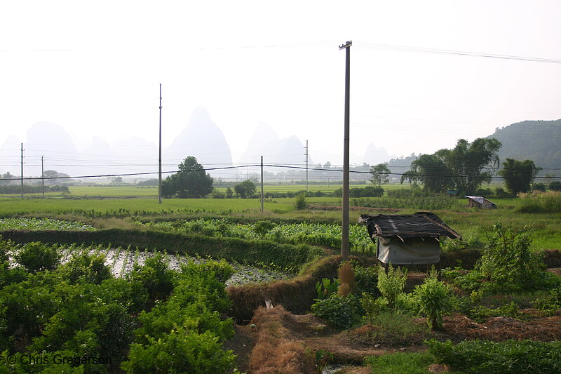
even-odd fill
[{"label": "bright green leafy bush at bottom edge, left of dry brown path", "polygon": [[161,338],[148,337],[147,345],[130,345],[126,373],[227,374],[234,367],[234,354],[222,350],[217,336],[198,334],[178,327]]}]

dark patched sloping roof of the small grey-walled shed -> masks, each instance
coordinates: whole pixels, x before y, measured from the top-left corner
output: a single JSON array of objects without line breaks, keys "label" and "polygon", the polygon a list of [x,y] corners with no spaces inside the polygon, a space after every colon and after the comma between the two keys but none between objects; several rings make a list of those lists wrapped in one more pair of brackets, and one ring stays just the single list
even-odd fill
[{"label": "dark patched sloping roof of the small grey-walled shed", "polygon": [[400,239],[407,237],[447,236],[450,239],[458,239],[461,236],[448,227],[438,215],[430,212],[417,212],[414,214],[378,214],[360,215],[358,223],[367,225],[370,238],[374,236],[399,236]]}]

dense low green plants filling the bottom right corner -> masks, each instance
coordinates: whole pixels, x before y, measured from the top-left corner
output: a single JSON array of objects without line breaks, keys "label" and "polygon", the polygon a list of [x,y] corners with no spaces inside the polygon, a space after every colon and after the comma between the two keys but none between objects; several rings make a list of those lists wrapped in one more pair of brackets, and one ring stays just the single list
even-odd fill
[{"label": "dense low green plants filling the bottom right corner", "polygon": [[466,340],[453,342],[428,341],[428,352],[438,361],[462,373],[560,373],[561,342],[532,340]]}]

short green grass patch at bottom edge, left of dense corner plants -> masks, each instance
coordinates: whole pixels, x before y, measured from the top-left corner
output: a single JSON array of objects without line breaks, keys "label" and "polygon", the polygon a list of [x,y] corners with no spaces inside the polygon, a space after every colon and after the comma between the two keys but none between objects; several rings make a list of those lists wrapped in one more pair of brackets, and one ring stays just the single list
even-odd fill
[{"label": "short green grass patch at bottom edge, left of dense corner plants", "polygon": [[434,363],[434,356],[428,353],[392,353],[369,356],[365,363],[377,374],[428,374],[428,366]]}]

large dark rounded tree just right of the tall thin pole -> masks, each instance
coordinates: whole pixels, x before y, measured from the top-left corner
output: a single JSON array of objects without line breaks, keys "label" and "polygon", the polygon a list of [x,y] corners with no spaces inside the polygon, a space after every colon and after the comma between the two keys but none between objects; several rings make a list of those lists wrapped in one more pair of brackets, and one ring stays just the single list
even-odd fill
[{"label": "large dark rounded tree just right of the tall thin pole", "polygon": [[181,199],[204,197],[212,192],[212,177],[194,156],[188,156],[178,166],[179,172],[162,181],[163,197]]}]

